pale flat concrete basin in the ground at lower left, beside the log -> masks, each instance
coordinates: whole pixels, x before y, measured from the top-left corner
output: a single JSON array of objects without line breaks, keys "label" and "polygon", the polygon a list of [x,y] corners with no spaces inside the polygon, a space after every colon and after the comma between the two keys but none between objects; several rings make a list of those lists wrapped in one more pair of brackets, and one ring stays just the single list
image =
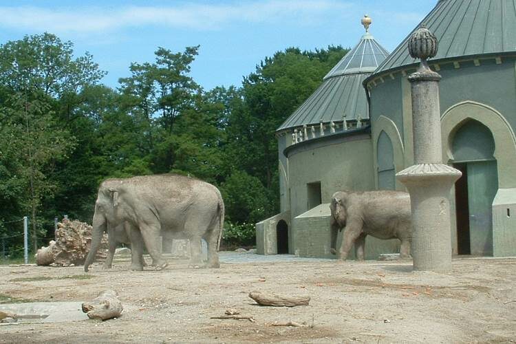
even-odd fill
[{"label": "pale flat concrete basin in the ground at lower left, beside the log", "polygon": [[16,325],[17,323],[67,323],[89,319],[83,313],[80,302],[31,302],[0,304],[1,311],[17,315],[16,323],[0,323]]}]

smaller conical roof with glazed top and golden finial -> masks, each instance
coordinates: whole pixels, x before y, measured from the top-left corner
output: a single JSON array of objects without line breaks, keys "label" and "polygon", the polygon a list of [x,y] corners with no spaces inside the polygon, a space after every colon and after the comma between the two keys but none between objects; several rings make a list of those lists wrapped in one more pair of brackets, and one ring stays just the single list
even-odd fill
[{"label": "smaller conical roof with glazed top and golden finial", "polygon": [[[367,16],[364,19],[369,19]],[[281,131],[319,122],[342,121],[369,118],[367,98],[363,81],[389,55],[374,37],[366,33],[323,78],[323,83],[285,122],[277,129]],[[370,20],[366,23],[370,23]]]}]

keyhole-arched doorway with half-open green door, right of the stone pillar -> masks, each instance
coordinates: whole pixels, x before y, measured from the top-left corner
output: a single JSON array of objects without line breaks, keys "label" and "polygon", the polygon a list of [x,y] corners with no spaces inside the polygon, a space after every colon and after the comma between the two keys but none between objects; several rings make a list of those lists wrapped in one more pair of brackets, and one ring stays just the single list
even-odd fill
[{"label": "keyhole-arched doorway with half-open green door, right of the stone pillar", "polygon": [[493,133],[477,120],[462,122],[454,132],[452,162],[462,172],[455,183],[458,253],[492,255],[492,205],[498,190]]}]

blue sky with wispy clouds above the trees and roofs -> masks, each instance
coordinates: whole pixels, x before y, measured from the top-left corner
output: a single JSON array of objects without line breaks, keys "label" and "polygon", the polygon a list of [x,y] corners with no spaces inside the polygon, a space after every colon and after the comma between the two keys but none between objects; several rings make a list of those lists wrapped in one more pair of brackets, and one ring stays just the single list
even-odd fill
[{"label": "blue sky with wispy clouds above the trees and roofs", "polygon": [[191,76],[205,89],[240,85],[265,56],[286,47],[352,47],[370,32],[392,51],[437,0],[122,1],[0,0],[0,43],[50,32],[90,52],[118,86],[131,62],[153,61],[162,46],[201,45]]}]

